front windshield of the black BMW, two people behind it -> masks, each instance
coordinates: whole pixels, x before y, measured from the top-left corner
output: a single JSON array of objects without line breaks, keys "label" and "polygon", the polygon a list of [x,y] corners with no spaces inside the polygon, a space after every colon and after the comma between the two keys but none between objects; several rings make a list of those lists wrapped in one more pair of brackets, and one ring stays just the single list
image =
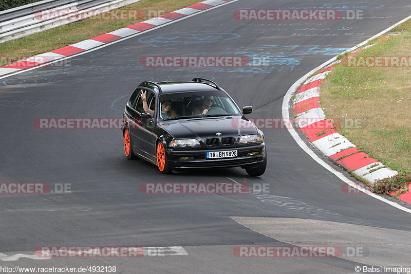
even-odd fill
[{"label": "front windshield of the black BMW, two people behind it", "polygon": [[160,118],[185,119],[240,115],[235,103],[221,90],[163,94],[160,101]]}]

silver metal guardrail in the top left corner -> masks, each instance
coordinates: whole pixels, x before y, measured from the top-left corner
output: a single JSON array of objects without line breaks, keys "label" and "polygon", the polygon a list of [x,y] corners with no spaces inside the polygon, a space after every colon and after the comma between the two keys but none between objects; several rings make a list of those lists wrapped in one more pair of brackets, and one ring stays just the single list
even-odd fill
[{"label": "silver metal guardrail in the top left corner", "polygon": [[[79,21],[99,14],[100,10],[108,11],[139,1],[43,0],[0,11],[0,43]],[[64,11],[66,14],[61,15],[62,12],[59,11]],[[47,18],[43,20],[41,14],[47,14]],[[78,18],[74,19],[74,15],[78,15]]]}]

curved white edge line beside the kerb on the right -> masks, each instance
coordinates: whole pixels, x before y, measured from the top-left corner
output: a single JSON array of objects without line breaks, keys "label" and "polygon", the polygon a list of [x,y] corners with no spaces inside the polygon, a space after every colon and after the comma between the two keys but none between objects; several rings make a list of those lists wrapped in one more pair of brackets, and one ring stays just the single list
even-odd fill
[{"label": "curved white edge line beside the kerb on the right", "polygon": [[[363,45],[367,44],[369,41],[378,38],[379,36],[381,36],[382,34],[390,31],[391,29],[395,28],[396,26],[404,23],[405,21],[411,19],[411,16],[406,17],[404,20],[401,20],[400,22],[398,22],[397,24],[381,31],[380,33],[372,36],[371,38],[365,40],[364,42],[353,46],[352,48],[344,51],[345,52],[350,52],[352,50],[355,50],[359,47],[362,47]],[[331,64],[332,62],[336,61],[337,57],[333,57],[330,60],[324,62],[323,64],[317,66],[316,68],[312,69],[311,71],[309,71],[306,75],[304,75],[303,77],[301,77],[300,79],[298,79],[287,91],[286,95],[284,96],[283,99],[283,106],[282,106],[282,114],[283,114],[283,119],[286,119],[286,121],[288,121],[287,119],[290,119],[290,115],[289,115],[289,105],[288,103],[291,100],[291,96],[292,94],[296,91],[296,89],[298,88],[298,86],[300,86],[302,83],[304,83],[304,81],[306,81],[306,79],[314,74],[314,72],[322,69],[323,67],[326,67],[327,65]],[[384,197],[381,197],[377,194],[374,193],[369,193],[368,190],[364,189],[363,187],[357,185],[356,182],[351,181],[350,179],[348,179],[343,173],[341,173],[340,171],[335,170],[333,167],[331,167],[327,162],[325,162],[323,159],[321,159],[319,156],[317,156],[309,147],[308,145],[305,143],[305,141],[303,139],[300,138],[300,136],[298,135],[298,133],[296,132],[296,130],[293,127],[287,127],[288,132],[291,134],[291,136],[294,138],[295,142],[300,146],[300,148],[302,148],[308,155],[311,156],[311,158],[313,158],[317,163],[319,163],[321,166],[323,166],[326,170],[328,170],[329,172],[332,172],[335,176],[337,176],[338,178],[340,178],[342,181],[344,181],[346,184],[348,184],[350,187],[358,189],[362,192],[364,192],[365,194],[376,198],[378,200],[381,200],[381,202],[384,202],[390,206],[393,206],[395,208],[398,208],[402,211],[411,213],[411,209],[408,209],[406,207],[403,207],[399,204],[397,204],[396,202],[392,202],[390,200],[387,200]]]}]

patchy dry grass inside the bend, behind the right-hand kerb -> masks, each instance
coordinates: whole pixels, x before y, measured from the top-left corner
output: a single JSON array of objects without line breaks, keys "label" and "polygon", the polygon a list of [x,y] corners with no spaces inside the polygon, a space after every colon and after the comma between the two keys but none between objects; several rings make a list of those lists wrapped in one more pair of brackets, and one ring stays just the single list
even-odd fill
[{"label": "patchy dry grass inside the bend, behind the right-hand kerb", "polygon": [[[390,39],[356,57],[411,57],[411,21]],[[338,64],[320,89],[327,117],[360,119],[339,131],[370,157],[402,174],[411,174],[411,64],[407,67],[352,67]]]}]

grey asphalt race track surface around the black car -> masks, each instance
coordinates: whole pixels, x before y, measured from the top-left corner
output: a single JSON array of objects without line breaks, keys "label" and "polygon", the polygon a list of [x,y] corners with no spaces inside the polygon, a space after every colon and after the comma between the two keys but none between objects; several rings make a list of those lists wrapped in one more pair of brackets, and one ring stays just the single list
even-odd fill
[{"label": "grey asphalt race track surface around the black car", "polygon": [[[40,246],[182,246],[188,255],[26,258],[0,264],[111,265],[120,273],[350,273],[355,266],[377,266],[378,257],[383,265],[403,262],[411,267],[405,255],[411,244],[409,213],[366,194],[344,193],[343,181],[298,147],[287,129],[264,130],[268,169],[261,177],[249,177],[240,168],[162,175],[148,162],[125,158],[118,129],[46,130],[33,126],[36,118],[121,118],[128,96],[142,80],[194,77],[216,81],[240,107],[252,105],[251,118],[281,118],[283,97],[297,79],[411,13],[407,0],[368,0],[362,5],[367,6],[367,17],[378,18],[238,21],[233,19],[237,9],[310,7],[301,0],[240,0],[68,59],[63,66],[1,79],[0,98],[8,103],[0,103],[0,182],[71,184],[71,193],[1,194],[0,252],[32,254]],[[383,7],[372,8],[379,6]],[[150,68],[139,62],[147,56],[222,55],[264,57],[270,65]],[[14,106],[10,102],[15,102]],[[269,193],[139,191],[145,182],[233,181],[267,183]],[[260,217],[269,221],[253,227]],[[284,218],[295,222],[286,226]],[[323,227],[329,229],[314,226],[311,230],[304,220],[324,222]],[[287,229],[271,233],[277,226]],[[301,229],[303,237],[298,234]],[[375,232],[372,238],[368,229]],[[323,236],[326,240],[321,241]],[[377,245],[376,239],[381,243]],[[368,252],[357,259],[241,259],[233,255],[236,246],[297,242],[362,246]],[[394,253],[396,260],[390,256]]]}]

